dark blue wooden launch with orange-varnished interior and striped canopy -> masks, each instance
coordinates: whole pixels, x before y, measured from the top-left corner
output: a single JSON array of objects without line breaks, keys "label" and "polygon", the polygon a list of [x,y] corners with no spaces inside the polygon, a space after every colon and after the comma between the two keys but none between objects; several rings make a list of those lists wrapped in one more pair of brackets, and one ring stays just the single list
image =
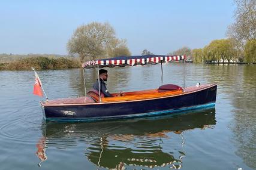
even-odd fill
[{"label": "dark blue wooden launch with orange-varnished interior and striped canopy", "polygon": [[104,97],[100,90],[86,91],[85,85],[84,97],[41,101],[44,118],[56,121],[127,119],[215,106],[217,84],[198,83],[195,86],[186,87],[185,58],[185,55],[135,55],[87,61],[82,64],[84,73],[85,69],[92,68],[99,70],[103,67],[143,66],[158,63],[161,63],[162,70],[163,63],[183,60],[183,87],[165,84],[155,89],[116,92],[112,94],[113,97]]}]

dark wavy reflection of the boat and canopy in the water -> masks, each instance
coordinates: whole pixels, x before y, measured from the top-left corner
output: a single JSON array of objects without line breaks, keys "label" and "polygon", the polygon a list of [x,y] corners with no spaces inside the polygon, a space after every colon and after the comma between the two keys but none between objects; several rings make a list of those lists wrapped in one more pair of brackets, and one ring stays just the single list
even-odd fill
[{"label": "dark wavy reflection of the boat and canopy in the water", "polygon": [[47,150],[68,149],[85,143],[81,152],[99,167],[169,166],[179,169],[186,156],[183,149],[185,131],[213,128],[215,124],[215,108],[175,116],[109,122],[43,122],[37,156],[43,162],[47,159],[46,147]]}]

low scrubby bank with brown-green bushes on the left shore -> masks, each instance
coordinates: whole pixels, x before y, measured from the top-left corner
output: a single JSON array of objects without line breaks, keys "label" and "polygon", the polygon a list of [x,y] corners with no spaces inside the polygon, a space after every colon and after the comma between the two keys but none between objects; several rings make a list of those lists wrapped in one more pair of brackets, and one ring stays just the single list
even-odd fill
[{"label": "low scrubby bank with brown-green bushes on the left shore", "polygon": [[71,69],[81,67],[79,58],[27,57],[0,63],[0,70]]}]

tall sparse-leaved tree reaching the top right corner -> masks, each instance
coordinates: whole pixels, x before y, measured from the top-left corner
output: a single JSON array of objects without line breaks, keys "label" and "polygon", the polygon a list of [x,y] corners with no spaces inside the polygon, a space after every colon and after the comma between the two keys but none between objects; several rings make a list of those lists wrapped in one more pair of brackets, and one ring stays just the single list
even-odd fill
[{"label": "tall sparse-leaved tree reaching the top right corner", "polygon": [[234,0],[234,3],[235,23],[228,26],[227,35],[236,39],[240,48],[243,48],[248,40],[256,38],[256,1]]}]

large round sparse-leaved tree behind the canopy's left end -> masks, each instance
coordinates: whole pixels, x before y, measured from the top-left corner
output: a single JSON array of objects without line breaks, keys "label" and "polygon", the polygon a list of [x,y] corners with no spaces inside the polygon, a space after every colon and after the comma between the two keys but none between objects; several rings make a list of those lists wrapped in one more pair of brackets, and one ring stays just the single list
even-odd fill
[{"label": "large round sparse-leaved tree behind the canopy's left end", "polygon": [[80,61],[85,58],[95,60],[104,55],[106,49],[116,41],[115,30],[109,23],[92,22],[79,26],[67,43],[71,55],[79,55]]}]

